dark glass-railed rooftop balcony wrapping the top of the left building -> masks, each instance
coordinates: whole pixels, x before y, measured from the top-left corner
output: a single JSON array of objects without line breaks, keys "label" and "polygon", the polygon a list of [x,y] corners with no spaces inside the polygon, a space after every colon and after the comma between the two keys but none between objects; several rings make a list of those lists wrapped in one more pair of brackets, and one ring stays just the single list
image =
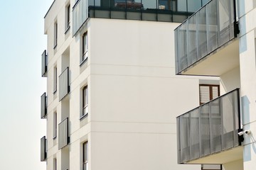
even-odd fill
[{"label": "dark glass-railed rooftop balcony wrapping the top of the left building", "polygon": [[73,6],[73,35],[87,18],[181,23],[209,0],[80,0]]}]

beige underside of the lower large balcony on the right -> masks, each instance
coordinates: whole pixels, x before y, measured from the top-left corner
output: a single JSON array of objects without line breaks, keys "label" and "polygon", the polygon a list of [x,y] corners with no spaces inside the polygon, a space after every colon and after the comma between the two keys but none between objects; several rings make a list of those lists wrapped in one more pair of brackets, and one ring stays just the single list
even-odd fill
[{"label": "beige underside of the lower large balcony on the right", "polygon": [[185,164],[225,164],[227,162],[233,162],[235,160],[242,159],[242,155],[242,147],[239,146],[223,152],[210,154],[206,157],[194,159],[192,161],[186,162]]}]

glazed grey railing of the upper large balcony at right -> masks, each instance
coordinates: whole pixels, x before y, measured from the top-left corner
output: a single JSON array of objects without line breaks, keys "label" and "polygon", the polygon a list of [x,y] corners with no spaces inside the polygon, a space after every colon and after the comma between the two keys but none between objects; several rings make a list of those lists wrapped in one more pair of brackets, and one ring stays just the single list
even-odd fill
[{"label": "glazed grey railing of the upper large balcony at right", "polygon": [[176,74],[233,40],[239,32],[234,0],[212,0],[175,33]]}]

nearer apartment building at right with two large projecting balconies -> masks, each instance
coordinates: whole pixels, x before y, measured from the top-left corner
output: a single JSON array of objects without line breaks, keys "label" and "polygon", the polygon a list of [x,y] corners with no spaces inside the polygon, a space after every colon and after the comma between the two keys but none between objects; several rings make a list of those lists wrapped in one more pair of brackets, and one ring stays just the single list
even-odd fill
[{"label": "nearer apartment building at right with two large projecting balconies", "polygon": [[176,74],[218,76],[221,95],[179,113],[179,164],[255,168],[255,7],[212,0],[175,30]]}]

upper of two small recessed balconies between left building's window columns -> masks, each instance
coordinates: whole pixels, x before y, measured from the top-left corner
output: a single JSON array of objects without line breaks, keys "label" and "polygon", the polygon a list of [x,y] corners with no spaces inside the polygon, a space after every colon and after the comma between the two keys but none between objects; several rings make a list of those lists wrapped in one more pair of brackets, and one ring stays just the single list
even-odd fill
[{"label": "upper of two small recessed balconies between left building's window columns", "polygon": [[68,67],[60,74],[59,81],[60,81],[59,101],[61,101],[70,92]]}]

